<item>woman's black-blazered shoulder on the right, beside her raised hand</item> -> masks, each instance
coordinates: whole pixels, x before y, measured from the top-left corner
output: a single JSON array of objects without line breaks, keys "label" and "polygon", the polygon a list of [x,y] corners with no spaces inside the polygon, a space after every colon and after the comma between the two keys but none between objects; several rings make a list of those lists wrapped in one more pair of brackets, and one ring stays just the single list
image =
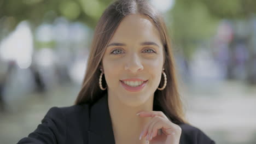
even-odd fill
[{"label": "woman's black-blazered shoulder on the right, beside her raised hand", "polygon": [[209,136],[203,133],[199,128],[194,127],[190,124],[179,124],[182,129],[181,144],[182,143],[209,143],[214,144],[215,142],[211,140]]}]

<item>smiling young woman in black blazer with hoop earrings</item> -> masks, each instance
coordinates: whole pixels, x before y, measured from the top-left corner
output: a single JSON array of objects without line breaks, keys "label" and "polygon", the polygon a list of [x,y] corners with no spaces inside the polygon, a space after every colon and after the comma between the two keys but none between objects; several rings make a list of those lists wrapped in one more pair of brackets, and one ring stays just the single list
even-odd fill
[{"label": "smiling young woman in black blazer with hoop earrings", "polygon": [[147,0],[116,1],[92,41],[83,87],[19,143],[214,143],[184,119],[161,15]]}]

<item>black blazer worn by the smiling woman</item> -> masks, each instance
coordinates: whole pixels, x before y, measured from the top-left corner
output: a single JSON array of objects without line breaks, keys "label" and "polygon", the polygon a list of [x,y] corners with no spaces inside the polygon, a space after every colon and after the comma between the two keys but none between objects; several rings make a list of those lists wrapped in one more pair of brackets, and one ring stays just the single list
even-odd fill
[{"label": "black blazer worn by the smiling woman", "polygon": [[[179,127],[182,128],[181,144],[215,143],[198,128],[184,123]],[[18,143],[115,143],[107,95],[92,106],[52,107],[42,119],[42,124]]]}]

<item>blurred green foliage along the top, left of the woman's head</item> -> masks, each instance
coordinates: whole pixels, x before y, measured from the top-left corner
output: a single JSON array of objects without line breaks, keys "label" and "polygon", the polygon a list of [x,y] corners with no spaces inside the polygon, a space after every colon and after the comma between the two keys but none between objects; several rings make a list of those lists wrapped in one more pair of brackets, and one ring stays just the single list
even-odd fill
[{"label": "blurred green foliage along the top, left of the woman's head", "polygon": [[[92,28],[111,0],[0,0],[0,18],[13,17],[14,27],[22,20],[37,26],[64,16],[70,21],[82,21]],[[49,14],[51,14],[49,16]],[[50,18],[50,19],[49,19]]]}]

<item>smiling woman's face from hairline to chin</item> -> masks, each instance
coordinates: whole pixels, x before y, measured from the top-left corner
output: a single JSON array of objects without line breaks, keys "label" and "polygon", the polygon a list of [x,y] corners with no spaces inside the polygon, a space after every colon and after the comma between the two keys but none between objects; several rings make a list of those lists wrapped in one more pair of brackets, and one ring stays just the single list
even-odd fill
[{"label": "smiling woman's face from hairline to chin", "polygon": [[144,15],[126,16],[102,59],[108,94],[129,106],[154,97],[164,62],[160,35]]}]

